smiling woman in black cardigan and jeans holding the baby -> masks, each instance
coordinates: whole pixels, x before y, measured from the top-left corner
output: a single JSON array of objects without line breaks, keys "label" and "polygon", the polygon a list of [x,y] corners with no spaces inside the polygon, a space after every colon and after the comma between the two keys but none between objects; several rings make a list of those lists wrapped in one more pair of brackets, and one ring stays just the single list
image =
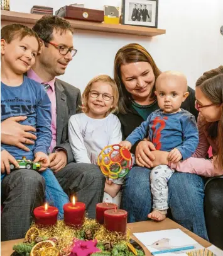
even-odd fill
[{"label": "smiling woman in black cardigan and jeans holding the baby", "polygon": [[[161,73],[144,47],[129,44],[118,50],[114,61],[114,79],[119,88],[119,113],[123,139],[126,139],[151,112],[158,109],[155,81]],[[195,92],[182,104],[197,117]],[[128,211],[128,221],[144,221],[151,212],[150,168],[153,167],[155,146],[139,141],[133,147],[135,166],[123,186],[122,207]],[[190,184],[190,185],[188,185]],[[170,211],[173,220],[208,240],[204,218],[204,180],[199,175],[174,173],[169,183]]]}]

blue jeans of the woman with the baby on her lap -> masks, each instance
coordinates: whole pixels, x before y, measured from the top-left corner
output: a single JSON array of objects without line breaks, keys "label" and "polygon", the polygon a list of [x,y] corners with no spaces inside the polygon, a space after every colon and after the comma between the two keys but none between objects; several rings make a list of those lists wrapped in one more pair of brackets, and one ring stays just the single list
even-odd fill
[{"label": "blue jeans of the woman with the baby on her lap", "polygon": [[[145,221],[152,210],[148,168],[133,167],[124,185],[121,206],[128,211],[128,222]],[[204,218],[204,181],[191,173],[173,173],[168,182],[168,204],[174,221],[209,240]]]}]

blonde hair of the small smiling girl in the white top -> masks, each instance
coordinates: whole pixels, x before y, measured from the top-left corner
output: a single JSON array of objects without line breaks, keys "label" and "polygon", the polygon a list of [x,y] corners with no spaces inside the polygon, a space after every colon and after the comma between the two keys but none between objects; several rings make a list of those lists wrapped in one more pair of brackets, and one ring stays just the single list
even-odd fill
[{"label": "blonde hair of the small smiling girl in the white top", "polygon": [[84,93],[82,94],[82,111],[84,113],[89,112],[89,106],[87,105],[87,102],[89,100],[89,93],[90,93],[90,88],[93,83],[96,82],[102,82],[102,83],[108,83],[112,87],[113,91],[113,103],[112,103],[112,108],[106,113],[106,115],[109,115],[109,113],[114,113],[117,111],[117,102],[119,101],[119,91],[117,90],[117,84],[112,79],[110,76],[107,76],[106,74],[102,74],[100,76],[95,76],[95,78],[91,79],[90,82],[87,84]]}]

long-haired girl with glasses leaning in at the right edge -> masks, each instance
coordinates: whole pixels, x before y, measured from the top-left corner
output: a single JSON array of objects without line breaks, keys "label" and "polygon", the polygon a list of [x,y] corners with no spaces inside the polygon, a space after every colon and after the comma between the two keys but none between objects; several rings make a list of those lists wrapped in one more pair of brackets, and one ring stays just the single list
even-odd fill
[{"label": "long-haired girl with glasses leaning in at the right edge", "polygon": [[[223,66],[207,71],[196,83],[199,110],[199,146],[191,158],[171,164],[178,172],[196,173],[210,178],[205,184],[205,220],[211,243],[223,249]],[[207,158],[210,146],[212,158]],[[168,153],[158,152],[158,158]],[[159,161],[159,160],[158,160]]]}]

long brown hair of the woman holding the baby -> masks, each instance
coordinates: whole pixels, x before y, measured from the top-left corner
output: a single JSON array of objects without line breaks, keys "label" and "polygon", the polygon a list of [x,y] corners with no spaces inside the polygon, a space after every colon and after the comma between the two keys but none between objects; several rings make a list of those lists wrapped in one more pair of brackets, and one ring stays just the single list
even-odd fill
[{"label": "long brown hair of the woman holding the baby", "polygon": [[[161,74],[161,71],[156,66],[155,61],[143,46],[139,44],[128,44],[117,51],[114,59],[114,80],[116,81],[117,88],[119,89],[119,102],[118,110],[120,113],[127,113],[129,110],[129,104],[131,103],[131,94],[126,90],[121,79],[121,66],[123,64],[129,64],[134,62],[148,62],[150,63],[155,78]],[[155,86],[150,93],[150,99],[155,100]]]}]

